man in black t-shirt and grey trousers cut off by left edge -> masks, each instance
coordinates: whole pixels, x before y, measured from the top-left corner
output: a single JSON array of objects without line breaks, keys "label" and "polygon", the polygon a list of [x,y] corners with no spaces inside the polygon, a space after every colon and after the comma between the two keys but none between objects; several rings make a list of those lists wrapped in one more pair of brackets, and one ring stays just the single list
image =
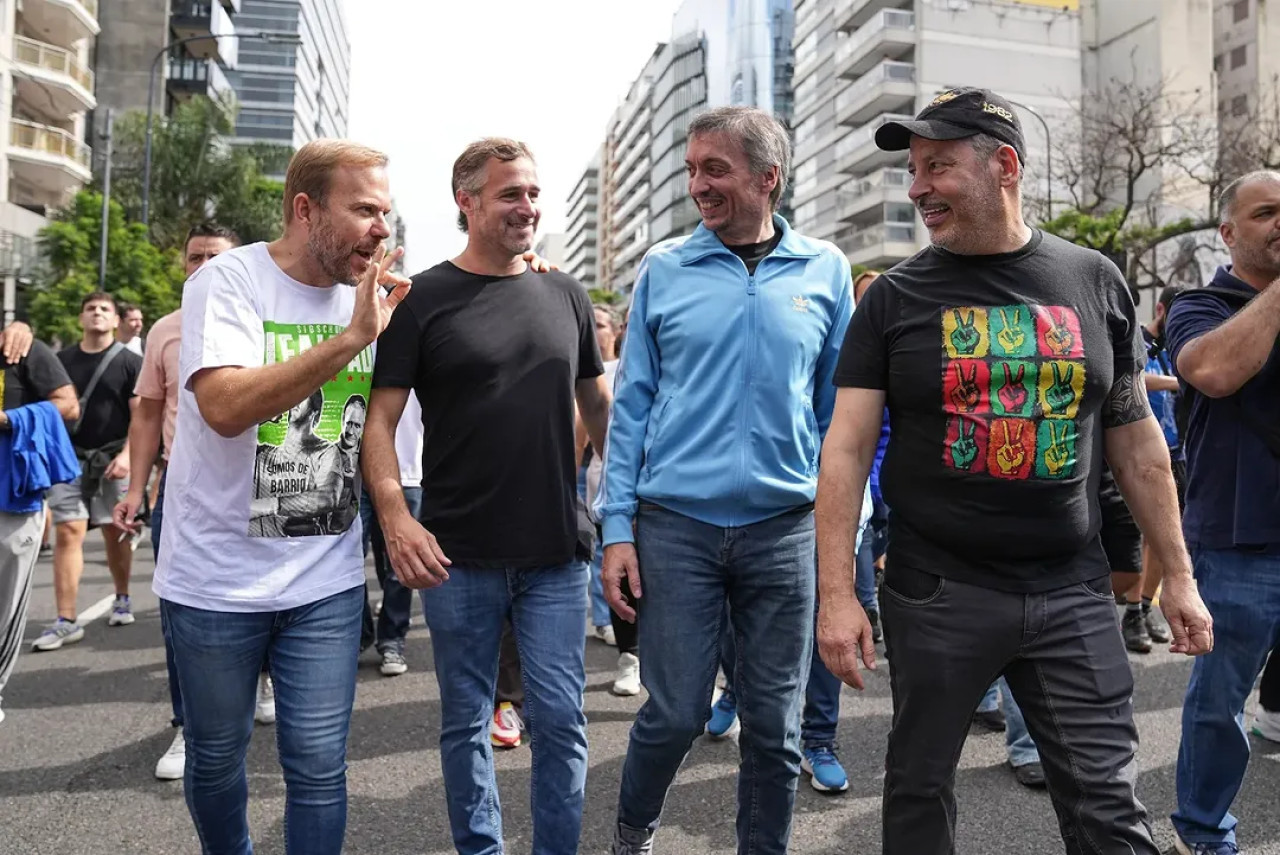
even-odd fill
[{"label": "man in black t-shirt and grey trousers cut off by left edge", "polygon": [[[8,330],[0,333],[0,348],[6,342]],[[26,347],[26,346],[23,346]],[[76,388],[67,370],[44,342],[32,342],[31,349],[12,364],[0,357],[0,435],[10,434],[15,411],[49,401],[64,420],[79,415]],[[38,424],[38,422],[37,422]],[[61,430],[59,427],[59,430]],[[50,442],[51,444],[51,442]],[[0,445],[8,447],[6,442]],[[0,466],[10,466],[10,454],[0,454]],[[9,479],[0,479],[6,493]],[[0,695],[18,663],[22,634],[27,625],[27,600],[31,596],[31,577],[40,558],[40,538],[45,530],[45,511],[38,493],[33,503],[24,507],[4,507],[17,497],[0,499]],[[35,504],[35,509],[29,506]],[[19,512],[20,511],[20,512]],[[0,722],[4,709],[0,708]]]}]

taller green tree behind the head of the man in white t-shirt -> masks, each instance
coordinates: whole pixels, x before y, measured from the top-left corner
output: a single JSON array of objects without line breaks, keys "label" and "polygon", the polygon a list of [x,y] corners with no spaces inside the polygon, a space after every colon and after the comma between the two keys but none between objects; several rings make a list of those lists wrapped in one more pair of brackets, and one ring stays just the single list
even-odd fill
[{"label": "taller green tree behind the head of the man in white t-shirt", "polygon": [[[154,120],[150,236],[161,248],[177,248],[204,220],[234,229],[244,242],[279,237],[284,187],[262,168],[278,168],[289,151],[232,146],[233,132],[232,116],[207,97],[193,97]],[[146,114],[129,113],[115,125],[111,197],[133,220],[142,216],[145,151]]]}]

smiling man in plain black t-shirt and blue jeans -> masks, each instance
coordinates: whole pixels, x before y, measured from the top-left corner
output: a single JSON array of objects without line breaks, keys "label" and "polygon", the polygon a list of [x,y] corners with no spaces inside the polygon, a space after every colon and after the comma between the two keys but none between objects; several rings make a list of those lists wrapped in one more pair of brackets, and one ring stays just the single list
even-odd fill
[{"label": "smiling man in plain black t-shirt and blue jeans", "polygon": [[[458,851],[503,847],[489,728],[509,617],[534,733],[534,851],[576,852],[589,555],[577,549],[573,404],[603,448],[609,392],[586,291],[522,259],[539,220],[529,148],[472,143],[454,163],[453,191],[467,247],[413,278],[383,333],[361,465],[397,577],[428,589]],[[417,520],[396,457],[410,389],[425,431]]]}]

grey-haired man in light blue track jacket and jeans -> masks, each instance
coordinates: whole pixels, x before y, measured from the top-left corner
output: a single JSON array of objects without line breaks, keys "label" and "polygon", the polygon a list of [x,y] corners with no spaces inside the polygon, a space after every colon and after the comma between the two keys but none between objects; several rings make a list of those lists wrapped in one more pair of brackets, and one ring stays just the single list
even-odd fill
[{"label": "grey-haired man in light blue track jacket and jeans", "polygon": [[640,709],[613,851],[652,851],[707,722],[724,603],[737,646],[739,852],[785,852],[813,645],[818,449],[852,314],[849,262],[773,210],[791,165],[768,114],[689,129],[703,223],[640,265],[596,499],[611,605],[637,619]]}]

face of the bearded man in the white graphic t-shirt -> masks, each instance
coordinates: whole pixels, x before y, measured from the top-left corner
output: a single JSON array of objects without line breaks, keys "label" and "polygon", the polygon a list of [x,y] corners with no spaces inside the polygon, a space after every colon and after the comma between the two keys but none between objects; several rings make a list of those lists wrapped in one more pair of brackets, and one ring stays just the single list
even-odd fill
[{"label": "face of the bearded man in the white graphic t-shirt", "polygon": [[339,166],[324,204],[311,205],[307,252],[334,282],[356,284],[383,241],[390,237],[387,215],[392,192],[387,169]]}]

